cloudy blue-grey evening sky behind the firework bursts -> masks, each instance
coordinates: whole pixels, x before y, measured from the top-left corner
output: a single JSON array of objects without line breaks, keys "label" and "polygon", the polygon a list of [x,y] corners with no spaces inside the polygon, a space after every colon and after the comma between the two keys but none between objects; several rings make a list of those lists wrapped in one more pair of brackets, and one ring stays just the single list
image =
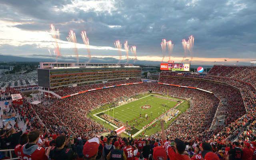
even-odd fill
[{"label": "cloudy blue-grey evening sky behind the firework bursts", "polygon": [[[114,46],[136,46],[138,60],[168,61],[163,38],[172,40],[171,60],[250,62],[256,60],[255,0],[1,0],[0,54],[54,57],[50,24],[60,32],[60,54],[88,55],[81,31],[86,31],[92,57],[119,58]],[[182,39],[194,36],[194,49],[184,53]],[[51,53],[49,53],[49,50]],[[128,52],[129,58],[135,58]],[[187,58],[184,56],[187,55]],[[61,58],[61,57],[59,57]]]}]

